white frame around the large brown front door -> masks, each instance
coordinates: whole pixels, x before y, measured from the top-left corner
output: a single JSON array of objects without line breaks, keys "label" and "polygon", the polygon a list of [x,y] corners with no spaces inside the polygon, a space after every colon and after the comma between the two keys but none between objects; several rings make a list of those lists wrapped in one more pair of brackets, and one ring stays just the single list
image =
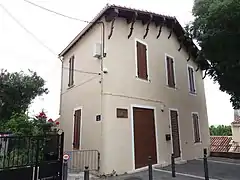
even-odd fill
[{"label": "white frame around the large brown front door", "polygon": [[[158,128],[157,128],[157,113],[156,107],[131,104],[131,130],[132,130],[132,161],[133,161],[133,171],[136,170],[135,167],[135,146],[134,146],[134,118],[133,118],[133,108],[143,108],[152,109],[154,113],[154,126],[155,126],[155,139],[156,139],[156,151],[157,151],[157,164],[159,164],[159,146],[158,146]],[[144,168],[144,167],[143,167]],[[140,168],[141,169],[141,168]]]}]

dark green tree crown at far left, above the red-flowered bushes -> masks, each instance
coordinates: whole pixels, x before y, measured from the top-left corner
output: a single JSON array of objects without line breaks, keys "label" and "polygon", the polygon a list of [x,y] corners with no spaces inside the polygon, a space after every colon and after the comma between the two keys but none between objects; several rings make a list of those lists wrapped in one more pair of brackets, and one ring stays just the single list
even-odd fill
[{"label": "dark green tree crown at far left, above the red-flowered bushes", "polygon": [[25,113],[31,102],[47,93],[45,81],[36,72],[10,73],[0,71],[0,122],[8,121],[13,114]]}]

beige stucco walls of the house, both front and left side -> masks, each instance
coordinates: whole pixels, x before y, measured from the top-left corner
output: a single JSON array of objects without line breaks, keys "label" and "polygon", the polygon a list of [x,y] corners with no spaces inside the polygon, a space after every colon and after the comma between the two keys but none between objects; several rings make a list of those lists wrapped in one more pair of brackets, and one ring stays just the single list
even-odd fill
[{"label": "beige stucco walls of the house, both front and left side", "polygon": [[[130,39],[130,25],[125,20],[115,21],[113,35],[110,40],[110,23],[106,25],[106,53],[104,66],[108,73],[103,81],[103,118],[96,122],[95,117],[101,113],[100,77],[77,87],[95,75],[75,72],[75,88],[68,89],[68,70],[63,70],[61,101],[61,127],[65,131],[65,149],[72,148],[73,111],[82,107],[82,138],[83,149],[98,149],[101,153],[101,172],[124,173],[134,169],[132,113],[131,106],[148,106],[155,109],[157,127],[158,163],[167,164],[172,153],[171,142],[166,142],[165,134],[170,133],[169,108],[178,109],[181,138],[182,159],[188,160],[202,157],[203,147],[209,146],[208,119],[202,72],[196,72],[197,95],[188,92],[187,64],[195,67],[182,49],[174,35],[167,38],[169,31],[162,29],[156,39],[158,29],[150,25],[146,39],[143,39],[145,28],[140,22],[135,23]],[[64,67],[75,55],[75,69],[99,72],[100,63],[92,57],[93,45],[100,42],[101,30],[95,26],[80,40],[64,57]],[[148,45],[149,82],[136,78],[135,38]],[[166,86],[165,53],[175,58],[176,89]],[[120,96],[121,97],[120,97]],[[122,96],[123,95],[123,96]],[[140,98],[140,99],[139,99]],[[164,105],[164,111],[161,107]],[[128,118],[117,119],[116,108],[128,109]],[[201,144],[194,144],[191,113],[198,112],[200,118]],[[102,135],[102,136],[101,136]],[[103,137],[103,138],[101,138]]]}]

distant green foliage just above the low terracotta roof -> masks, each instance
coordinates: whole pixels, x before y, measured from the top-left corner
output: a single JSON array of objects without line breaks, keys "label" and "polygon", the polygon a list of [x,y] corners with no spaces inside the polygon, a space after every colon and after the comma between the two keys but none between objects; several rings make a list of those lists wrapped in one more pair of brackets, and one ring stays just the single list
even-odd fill
[{"label": "distant green foliage just above the low terracotta roof", "polygon": [[232,136],[231,126],[210,126],[209,131],[211,136]]}]

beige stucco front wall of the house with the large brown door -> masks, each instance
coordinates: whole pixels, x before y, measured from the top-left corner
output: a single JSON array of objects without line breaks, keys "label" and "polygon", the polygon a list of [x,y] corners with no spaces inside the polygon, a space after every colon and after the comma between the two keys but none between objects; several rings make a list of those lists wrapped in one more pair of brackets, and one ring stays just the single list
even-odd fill
[{"label": "beige stucco front wall of the house with the large brown door", "polygon": [[[110,24],[108,24],[108,32]],[[195,72],[196,95],[190,95],[188,90],[187,64],[196,64],[191,60],[187,62],[188,55],[172,35],[168,39],[169,30],[162,29],[159,39],[156,39],[158,29],[154,24],[146,39],[143,39],[145,28],[141,22],[134,25],[134,31],[130,39],[130,25],[123,19],[117,20],[114,25],[113,36],[107,41],[107,58],[105,67],[109,70],[104,75],[104,171],[113,169],[119,173],[133,170],[133,141],[131,124],[131,105],[152,106],[156,108],[158,162],[169,163],[172,152],[171,143],[165,141],[165,134],[170,133],[169,108],[178,109],[179,127],[182,148],[182,159],[188,160],[202,157],[202,149],[209,146],[208,119],[205,101],[202,72]],[[135,38],[147,44],[148,67],[150,82],[136,78]],[[175,58],[176,89],[166,86],[165,53]],[[114,95],[114,96],[113,96]],[[118,95],[121,95],[118,96]],[[122,95],[126,97],[122,97]],[[144,100],[137,99],[140,97]],[[160,102],[153,102],[161,101]],[[161,112],[161,104],[165,105]],[[117,119],[116,108],[124,107],[129,111],[128,119]],[[199,113],[201,144],[194,144],[193,123],[191,113]]]}]

